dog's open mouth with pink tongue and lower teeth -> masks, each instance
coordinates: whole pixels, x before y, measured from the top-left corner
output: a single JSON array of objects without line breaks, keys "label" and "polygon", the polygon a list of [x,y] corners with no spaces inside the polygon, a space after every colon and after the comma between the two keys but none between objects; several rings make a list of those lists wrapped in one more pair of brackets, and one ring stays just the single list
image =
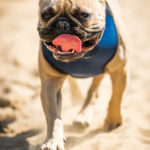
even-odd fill
[{"label": "dog's open mouth with pink tongue and lower teeth", "polygon": [[95,47],[97,40],[92,39],[81,42],[81,40],[74,35],[63,34],[56,37],[52,42],[44,43],[46,47],[57,56],[78,57]]}]

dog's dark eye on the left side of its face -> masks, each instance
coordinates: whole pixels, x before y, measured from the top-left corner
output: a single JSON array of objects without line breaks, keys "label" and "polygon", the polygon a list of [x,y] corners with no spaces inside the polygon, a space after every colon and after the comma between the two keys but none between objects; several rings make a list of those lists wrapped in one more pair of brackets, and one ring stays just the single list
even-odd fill
[{"label": "dog's dark eye on the left side of its face", "polygon": [[41,18],[45,21],[48,21],[54,15],[55,15],[54,10],[51,7],[46,7],[41,13]]}]

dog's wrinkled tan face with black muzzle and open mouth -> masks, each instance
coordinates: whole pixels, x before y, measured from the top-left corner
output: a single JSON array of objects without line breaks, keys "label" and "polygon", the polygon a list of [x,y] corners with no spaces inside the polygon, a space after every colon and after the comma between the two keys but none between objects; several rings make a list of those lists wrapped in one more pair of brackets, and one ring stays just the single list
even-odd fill
[{"label": "dog's wrinkled tan face with black muzzle and open mouth", "polygon": [[[105,28],[105,0],[40,0],[39,4],[40,39],[56,59],[67,62],[81,58],[100,40]],[[61,35],[69,35],[67,41],[75,37],[71,44],[80,45],[80,50],[69,46],[63,50],[64,40],[57,42],[63,46],[55,45],[53,41]]]}]

